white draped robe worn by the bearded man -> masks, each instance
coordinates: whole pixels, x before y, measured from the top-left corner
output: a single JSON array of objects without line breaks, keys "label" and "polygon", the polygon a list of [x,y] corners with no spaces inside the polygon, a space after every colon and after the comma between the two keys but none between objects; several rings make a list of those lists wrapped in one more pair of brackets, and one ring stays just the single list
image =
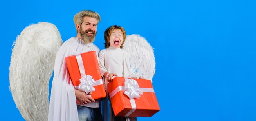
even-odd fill
[{"label": "white draped robe worn by the bearded man", "polygon": [[[86,44],[78,37],[68,39],[58,49],[54,65],[48,121],[78,121],[74,86],[67,70],[65,57],[87,51],[96,51],[96,54],[99,54],[97,46],[93,43]],[[87,107],[99,107],[99,101],[92,102]]]}]

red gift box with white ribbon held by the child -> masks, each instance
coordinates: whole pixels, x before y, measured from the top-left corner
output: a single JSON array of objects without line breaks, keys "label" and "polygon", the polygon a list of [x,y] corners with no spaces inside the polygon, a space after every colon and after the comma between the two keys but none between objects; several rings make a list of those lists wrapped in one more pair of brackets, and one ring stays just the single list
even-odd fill
[{"label": "red gift box with white ribbon held by the child", "polygon": [[151,117],[160,110],[153,86],[150,80],[134,79],[143,94],[139,99],[130,99],[124,94],[124,82],[130,78],[115,77],[108,83],[108,93],[115,116]]}]

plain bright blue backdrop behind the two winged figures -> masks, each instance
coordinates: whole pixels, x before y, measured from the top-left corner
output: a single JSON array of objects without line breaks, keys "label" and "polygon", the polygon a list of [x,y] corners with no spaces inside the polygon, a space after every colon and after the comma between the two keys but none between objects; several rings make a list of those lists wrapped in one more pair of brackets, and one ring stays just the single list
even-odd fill
[{"label": "plain bright blue backdrop behind the two winged figures", "polygon": [[76,36],[73,17],[83,9],[101,15],[94,42],[100,49],[113,24],[154,48],[161,110],[139,121],[256,121],[255,0],[72,1],[1,1],[1,121],[24,121],[8,88],[17,35],[50,22],[65,41]]}]

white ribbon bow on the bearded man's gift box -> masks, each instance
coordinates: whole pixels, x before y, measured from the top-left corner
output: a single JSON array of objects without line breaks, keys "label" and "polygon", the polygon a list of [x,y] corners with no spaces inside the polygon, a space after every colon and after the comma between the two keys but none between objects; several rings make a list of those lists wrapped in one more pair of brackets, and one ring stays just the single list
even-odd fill
[{"label": "white ribbon bow on the bearded man's gift box", "polygon": [[95,80],[90,75],[84,75],[80,80],[80,84],[78,86],[79,89],[83,90],[88,94],[89,92],[95,91],[93,86],[96,85]]}]

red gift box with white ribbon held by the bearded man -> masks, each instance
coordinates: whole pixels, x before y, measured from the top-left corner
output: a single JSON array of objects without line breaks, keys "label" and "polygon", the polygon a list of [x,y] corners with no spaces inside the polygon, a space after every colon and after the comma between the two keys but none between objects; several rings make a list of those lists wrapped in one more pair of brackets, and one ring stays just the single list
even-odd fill
[{"label": "red gift box with white ribbon held by the bearded man", "polygon": [[[99,70],[99,63],[95,51],[68,56],[65,57],[65,59],[70,78],[76,89],[79,89],[78,86],[81,83],[79,79],[83,77],[81,75],[90,75],[93,77],[95,82],[97,82],[96,86],[93,86],[95,91],[92,92],[92,98],[99,99],[106,97],[106,92],[103,86],[103,81]],[[81,104],[78,101],[76,102]]]}]

